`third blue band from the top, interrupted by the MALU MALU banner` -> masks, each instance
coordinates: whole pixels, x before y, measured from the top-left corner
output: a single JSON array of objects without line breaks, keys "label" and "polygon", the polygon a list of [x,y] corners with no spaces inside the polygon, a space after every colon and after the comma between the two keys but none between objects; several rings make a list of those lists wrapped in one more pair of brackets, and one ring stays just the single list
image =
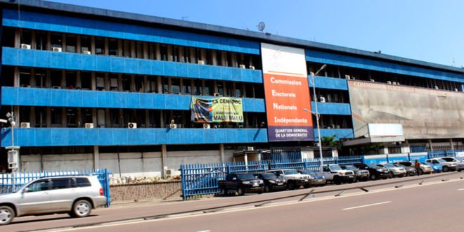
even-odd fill
[{"label": "third blue band from the top, interrupted by the MALU MALU banner", "polygon": [[[191,99],[179,94],[1,87],[2,105],[190,110]],[[242,99],[243,111],[265,112],[264,99]]]}]

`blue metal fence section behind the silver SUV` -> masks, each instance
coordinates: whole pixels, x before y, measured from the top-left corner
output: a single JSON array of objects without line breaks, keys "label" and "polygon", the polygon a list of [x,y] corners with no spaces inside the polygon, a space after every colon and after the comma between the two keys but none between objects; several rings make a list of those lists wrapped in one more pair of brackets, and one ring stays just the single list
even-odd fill
[{"label": "blue metal fence section behind the silver SUV", "polygon": [[0,174],[0,193],[13,193],[25,183],[34,179],[46,176],[79,176],[79,175],[96,175],[103,187],[103,195],[108,199],[105,207],[110,207],[110,178],[108,169],[84,169],[84,170],[66,170],[66,171],[44,171],[44,172],[17,172],[15,174]]}]

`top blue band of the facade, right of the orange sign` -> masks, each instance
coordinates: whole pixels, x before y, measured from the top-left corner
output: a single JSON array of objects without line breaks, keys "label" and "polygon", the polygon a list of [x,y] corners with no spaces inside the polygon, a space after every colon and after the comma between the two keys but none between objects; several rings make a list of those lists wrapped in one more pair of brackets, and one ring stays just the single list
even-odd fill
[{"label": "top blue band of the facade, right of the orange sign", "polygon": [[[306,50],[306,60],[316,63],[326,63],[328,65],[340,65],[346,67],[356,67],[366,70],[375,70],[380,72],[392,72],[401,75],[411,75],[416,77],[427,77],[433,79],[444,79],[452,82],[464,82],[464,75],[451,72],[441,72],[429,70],[423,67],[413,67],[395,63],[387,63],[380,60],[370,60],[366,58],[357,58],[323,51]],[[375,79],[375,77],[373,77]],[[401,82],[401,80],[400,80]]]}]

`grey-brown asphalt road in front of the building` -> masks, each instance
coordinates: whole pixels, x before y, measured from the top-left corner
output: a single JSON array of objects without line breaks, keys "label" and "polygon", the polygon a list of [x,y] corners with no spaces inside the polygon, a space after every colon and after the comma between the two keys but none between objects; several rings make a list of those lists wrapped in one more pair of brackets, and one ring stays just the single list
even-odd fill
[{"label": "grey-brown asphalt road in front of the building", "polygon": [[[188,202],[142,202],[98,209],[93,217],[70,219],[57,214],[15,219],[1,231],[28,231],[54,228],[53,231],[463,231],[460,217],[464,211],[463,174],[433,174],[368,181],[342,186],[314,188],[315,194],[299,202],[309,189],[282,191],[243,197],[210,198]],[[423,179],[426,178],[426,179]],[[442,181],[447,180],[447,181]],[[398,181],[405,181],[397,183]],[[422,185],[418,183],[422,182]],[[381,186],[377,186],[382,183]],[[341,188],[370,186],[368,193],[352,189],[341,196]],[[398,188],[395,188],[398,187]],[[338,190],[337,190],[338,189]],[[463,189],[462,191],[460,189]],[[333,192],[325,192],[334,190]],[[324,192],[324,193],[319,193]],[[288,197],[288,198],[284,198]],[[276,199],[281,198],[281,199]],[[255,207],[257,201],[268,202]],[[254,203],[248,203],[254,202]],[[224,207],[226,205],[234,205]],[[207,207],[224,207],[204,213]],[[200,211],[198,211],[200,210]],[[164,219],[150,216],[174,214]],[[197,212],[195,212],[197,211]],[[148,217],[140,219],[141,217]],[[134,219],[139,218],[139,219]],[[123,219],[134,219],[124,221]],[[115,221],[97,227],[66,226]],[[63,228],[57,228],[63,226]]]}]

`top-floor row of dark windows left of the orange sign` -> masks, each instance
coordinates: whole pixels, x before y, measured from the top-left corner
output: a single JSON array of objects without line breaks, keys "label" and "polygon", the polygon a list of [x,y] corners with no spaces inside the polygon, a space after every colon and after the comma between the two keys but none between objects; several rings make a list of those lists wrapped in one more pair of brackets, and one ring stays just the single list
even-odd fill
[{"label": "top-floor row of dark windows left of the orange sign", "polygon": [[[6,27],[4,46],[70,53],[261,69],[258,55],[188,46]],[[16,39],[15,41],[15,36]],[[19,35],[19,36],[18,36]]]}]

